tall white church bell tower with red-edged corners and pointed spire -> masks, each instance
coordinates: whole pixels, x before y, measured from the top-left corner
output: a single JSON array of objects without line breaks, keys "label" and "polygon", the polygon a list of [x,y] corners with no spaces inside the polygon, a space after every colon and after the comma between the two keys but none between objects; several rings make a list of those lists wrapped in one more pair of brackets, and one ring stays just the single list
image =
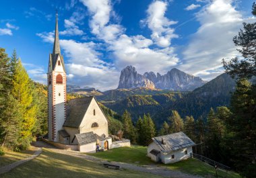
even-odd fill
[{"label": "tall white church bell tower with red-edged corners and pointed spire", "polygon": [[65,122],[66,72],[61,48],[59,46],[58,14],[56,13],[55,40],[53,54],[49,54],[48,66],[48,136],[49,140],[59,142],[58,131]]}]

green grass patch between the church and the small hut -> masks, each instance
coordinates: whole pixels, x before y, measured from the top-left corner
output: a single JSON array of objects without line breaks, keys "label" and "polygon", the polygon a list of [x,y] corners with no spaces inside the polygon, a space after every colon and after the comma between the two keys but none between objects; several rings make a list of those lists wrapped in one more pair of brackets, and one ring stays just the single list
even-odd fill
[{"label": "green grass patch between the church and the small hut", "polygon": [[117,161],[123,163],[132,163],[136,165],[154,164],[149,157],[146,156],[147,150],[145,146],[131,146],[113,148],[104,152],[90,153],[94,157],[105,159],[107,161]]}]

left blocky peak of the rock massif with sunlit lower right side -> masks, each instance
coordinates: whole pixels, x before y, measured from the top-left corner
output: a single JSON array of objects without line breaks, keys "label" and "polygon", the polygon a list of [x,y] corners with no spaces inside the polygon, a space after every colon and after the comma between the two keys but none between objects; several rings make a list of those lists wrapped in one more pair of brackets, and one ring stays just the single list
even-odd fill
[{"label": "left blocky peak of the rock massif with sunlit lower right side", "polygon": [[127,66],[121,71],[118,89],[132,89],[137,87],[155,88],[152,81],[143,77],[143,75],[137,74],[134,66]]}]

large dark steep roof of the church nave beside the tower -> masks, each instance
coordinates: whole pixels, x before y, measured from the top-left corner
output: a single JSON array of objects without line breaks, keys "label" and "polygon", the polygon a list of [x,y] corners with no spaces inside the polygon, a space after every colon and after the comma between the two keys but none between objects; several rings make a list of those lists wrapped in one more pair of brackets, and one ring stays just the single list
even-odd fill
[{"label": "large dark steep roof of the church nave beside the tower", "polygon": [[67,118],[64,127],[79,128],[93,97],[80,97],[67,103]]}]

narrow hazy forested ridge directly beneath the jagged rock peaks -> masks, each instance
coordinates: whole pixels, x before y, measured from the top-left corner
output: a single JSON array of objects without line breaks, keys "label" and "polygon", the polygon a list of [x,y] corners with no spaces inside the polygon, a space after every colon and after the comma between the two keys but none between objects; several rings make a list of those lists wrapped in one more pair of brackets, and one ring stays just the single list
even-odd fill
[{"label": "narrow hazy forested ridge directly beneath the jagged rock peaks", "polygon": [[170,91],[161,89],[149,89],[145,87],[139,87],[135,89],[111,89],[102,92],[102,95],[98,95],[96,98],[98,101],[117,101],[132,95],[158,95],[162,93],[170,93]]}]

